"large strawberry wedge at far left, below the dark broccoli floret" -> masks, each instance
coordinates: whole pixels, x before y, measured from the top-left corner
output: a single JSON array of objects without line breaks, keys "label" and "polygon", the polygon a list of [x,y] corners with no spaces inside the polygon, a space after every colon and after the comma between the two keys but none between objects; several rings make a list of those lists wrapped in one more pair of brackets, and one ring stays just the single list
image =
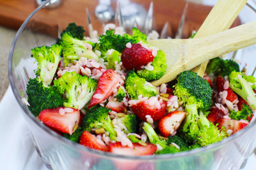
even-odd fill
[{"label": "large strawberry wedge at far left, below the dark broccoli floret", "polygon": [[42,110],[39,114],[39,119],[60,132],[72,135],[74,127],[79,123],[80,111],[70,108],[73,109],[73,112],[66,112],[64,115],[60,115],[60,108],[64,109],[65,107]]}]

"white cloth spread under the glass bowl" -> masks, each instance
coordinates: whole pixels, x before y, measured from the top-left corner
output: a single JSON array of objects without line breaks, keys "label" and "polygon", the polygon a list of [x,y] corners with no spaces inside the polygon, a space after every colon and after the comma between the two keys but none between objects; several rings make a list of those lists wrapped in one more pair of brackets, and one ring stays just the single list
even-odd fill
[{"label": "white cloth spread under the glass bowl", "polygon": [[[37,154],[9,86],[0,102],[0,170],[47,170]],[[253,154],[243,170],[254,170],[256,156]]]}]

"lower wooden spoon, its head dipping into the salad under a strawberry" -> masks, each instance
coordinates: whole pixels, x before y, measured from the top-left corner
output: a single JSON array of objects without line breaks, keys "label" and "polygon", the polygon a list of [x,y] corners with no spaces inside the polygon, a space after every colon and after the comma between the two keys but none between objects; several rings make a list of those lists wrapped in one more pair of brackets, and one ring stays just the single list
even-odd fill
[{"label": "lower wooden spoon, its head dipping into the salad under a strawberry", "polygon": [[256,21],[202,38],[158,39],[149,41],[149,44],[166,53],[166,73],[152,82],[158,86],[205,61],[256,44]]}]

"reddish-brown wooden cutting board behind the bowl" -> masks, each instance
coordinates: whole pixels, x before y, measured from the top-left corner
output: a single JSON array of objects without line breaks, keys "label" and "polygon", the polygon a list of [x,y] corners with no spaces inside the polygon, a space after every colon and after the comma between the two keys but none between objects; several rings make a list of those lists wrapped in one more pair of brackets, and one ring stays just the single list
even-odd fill
[{"label": "reddish-brown wooden cutting board behind the bowl", "polygon": [[[143,5],[146,10],[148,10],[151,2],[151,0],[132,1]],[[172,34],[176,34],[185,3],[183,0],[153,0],[158,33],[168,21],[172,28]],[[63,30],[68,23],[76,22],[77,25],[84,26],[85,34],[88,35],[86,8],[89,10],[94,28],[102,27],[102,23],[94,15],[94,9],[97,5],[98,0],[63,0],[61,6],[56,9],[44,8],[40,10],[35,17],[32,17],[28,25],[33,31],[57,37],[58,24]],[[116,3],[113,2],[112,6],[115,9]],[[35,0],[0,0],[0,25],[18,30],[36,7]],[[193,30],[198,30],[211,9],[211,6],[188,3],[183,31],[184,38],[188,37]],[[236,19],[234,25],[239,24],[239,19]]]}]

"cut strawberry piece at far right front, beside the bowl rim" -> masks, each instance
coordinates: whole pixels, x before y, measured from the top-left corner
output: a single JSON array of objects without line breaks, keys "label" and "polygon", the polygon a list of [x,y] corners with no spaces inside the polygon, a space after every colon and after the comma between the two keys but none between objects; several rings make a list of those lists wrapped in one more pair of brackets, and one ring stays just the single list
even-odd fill
[{"label": "cut strawberry piece at far right front, beside the bowl rim", "polygon": [[233,134],[244,128],[249,124],[249,122],[245,120],[234,120],[234,119],[218,119],[218,128],[220,129],[222,126],[225,126],[226,129],[233,130]]}]

